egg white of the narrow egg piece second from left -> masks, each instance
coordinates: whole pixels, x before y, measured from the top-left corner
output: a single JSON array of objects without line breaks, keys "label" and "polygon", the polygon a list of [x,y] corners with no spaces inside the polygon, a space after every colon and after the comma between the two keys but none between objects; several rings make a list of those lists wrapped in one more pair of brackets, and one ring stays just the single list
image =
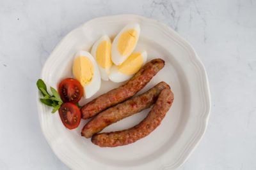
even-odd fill
[{"label": "egg white of the narrow egg piece second from left", "polygon": [[[92,56],[95,58],[95,60],[96,60],[97,48],[102,41],[108,41],[109,43],[111,43],[111,39],[109,38],[109,36],[104,35],[93,44],[91,53],[92,53]],[[97,64],[97,65],[99,66],[99,64]],[[100,76],[101,76],[102,80],[108,81],[108,74],[110,71],[110,67],[103,68],[103,67],[99,66],[99,71],[100,71]]]}]

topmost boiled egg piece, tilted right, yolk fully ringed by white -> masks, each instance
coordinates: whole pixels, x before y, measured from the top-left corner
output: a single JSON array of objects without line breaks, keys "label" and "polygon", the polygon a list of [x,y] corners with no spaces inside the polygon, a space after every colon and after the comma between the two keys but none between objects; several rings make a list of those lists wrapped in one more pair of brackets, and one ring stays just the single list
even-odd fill
[{"label": "topmost boiled egg piece, tilted right, yolk fully ringed by white", "polygon": [[111,59],[116,66],[122,64],[133,52],[140,36],[140,25],[126,25],[115,37],[111,49]]}]

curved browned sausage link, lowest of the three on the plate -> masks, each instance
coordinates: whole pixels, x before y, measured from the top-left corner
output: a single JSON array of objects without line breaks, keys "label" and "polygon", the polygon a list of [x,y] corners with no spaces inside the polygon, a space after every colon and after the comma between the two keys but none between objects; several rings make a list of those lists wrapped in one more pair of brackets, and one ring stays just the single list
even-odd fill
[{"label": "curved browned sausage link, lowest of the three on the plate", "polygon": [[128,145],[144,138],[161,124],[166,112],[172,106],[172,102],[172,91],[170,89],[162,90],[156,104],[140,124],[124,131],[95,134],[92,136],[92,143],[100,147],[115,147]]}]

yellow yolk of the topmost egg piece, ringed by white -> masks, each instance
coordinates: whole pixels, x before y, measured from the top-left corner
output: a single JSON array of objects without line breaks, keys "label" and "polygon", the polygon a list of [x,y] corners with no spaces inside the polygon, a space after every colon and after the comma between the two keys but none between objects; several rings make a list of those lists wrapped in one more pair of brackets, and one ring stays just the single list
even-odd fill
[{"label": "yellow yolk of the topmost egg piece, ringed by white", "polygon": [[118,51],[121,55],[127,55],[131,53],[134,46],[136,45],[136,41],[138,39],[138,32],[135,29],[129,29],[121,34],[118,39]]}]

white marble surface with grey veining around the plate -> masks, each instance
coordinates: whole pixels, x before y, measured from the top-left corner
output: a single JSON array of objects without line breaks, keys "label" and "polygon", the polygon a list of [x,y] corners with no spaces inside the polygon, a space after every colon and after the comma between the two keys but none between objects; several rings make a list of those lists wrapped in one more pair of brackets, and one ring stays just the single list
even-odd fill
[{"label": "white marble surface with grey veining around the plate", "polygon": [[40,130],[36,80],[65,34],[92,18],[122,13],[170,25],[207,70],[209,127],[179,170],[256,169],[255,0],[0,0],[0,169],[68,169]]}]

